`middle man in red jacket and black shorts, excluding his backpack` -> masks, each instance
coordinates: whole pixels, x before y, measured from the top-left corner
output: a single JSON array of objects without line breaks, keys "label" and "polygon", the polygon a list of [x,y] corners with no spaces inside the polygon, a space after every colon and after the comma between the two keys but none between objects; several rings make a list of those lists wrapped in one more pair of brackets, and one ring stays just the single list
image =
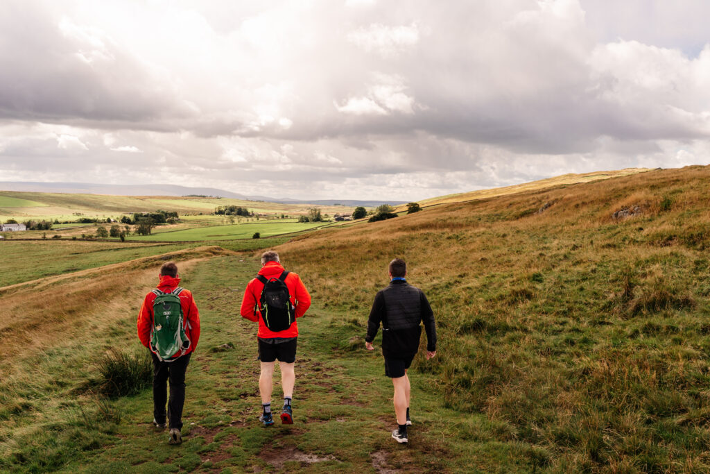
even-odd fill
[{"label": "middle man in red jacket and black shorts, excluding his backpack", "polygon": [[[264,426],[273,424],[273,416],[271,415],[271,391],[273,386],[271,379],[275,360],[277,359],[281,368],[281,386],[283,387],[281,422],[283,424],[293,423],[291,401],[293,385],[295,384],[293,367],[296,360],[298,326],[294,319],[287,329],[273,332],[266,327],[259,308],[261,292],[265,286],[263,281],[278,279],[283,273],[284,269],[279,262],[278,254],[273,252],[273,250],[264,252],[261,255],[261,270],[258,271],[257,278],[249,281],[244,291],[244,299],[241,301],[241,316],[259,324],[257,333],[259,359],[261,360],[259,392],[261,392],[261,406],[263,409],[259,421]],[[295,306],[295,318],[300,318],[310,306],[310,294],[308,294],[300,277],[293,272],[288,272],[283,282],[288,287],[290,303]]]}]

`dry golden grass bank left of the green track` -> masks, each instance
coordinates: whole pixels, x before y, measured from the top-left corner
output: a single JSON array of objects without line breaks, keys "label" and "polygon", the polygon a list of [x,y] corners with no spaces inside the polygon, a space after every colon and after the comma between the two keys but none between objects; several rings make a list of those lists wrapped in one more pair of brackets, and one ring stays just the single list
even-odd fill
[{"label": "dry golden grass bank left of the green track", "polygon": [[234,252],[198,247],[5,286],[0,289],[0,372],[12,365],[2,362],[79,337],[87,325],[94,329],[111,318],[137,314],[140,298],[129,296],[153,286],[164,262],[179,262],[182,271],[223,254]]}]

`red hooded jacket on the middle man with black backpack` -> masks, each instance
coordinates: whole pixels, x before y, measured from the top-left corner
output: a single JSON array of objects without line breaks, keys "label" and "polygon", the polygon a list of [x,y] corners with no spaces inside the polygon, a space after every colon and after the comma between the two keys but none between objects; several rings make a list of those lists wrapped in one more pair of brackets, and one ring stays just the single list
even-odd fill
[{"label": "red hooded jacket on the middle man with black backpack", "polygon": [[[266,262],[258,274],[263,275],[266,279],[278,278],[283,273],[283,266],[278,262]],[[288,294],[291,296],[291,304],[296,308],[296,318],[300,318],[310,307],[310,294],[300,279],[300,276],[289,272],[284,281],[288,287]],[[258,322],[259,330],[257,336],[259,338],[296,338],[298,336],[298,325],[294,321],[290,328],[274,333],[269,330],[261,318],[261,312],[258,311],[258,302],[261,298],[263,283],[256,278],[249,281],[249,284],[244,290],[244,299],[241,300],[241,316],[249,321]]]}]

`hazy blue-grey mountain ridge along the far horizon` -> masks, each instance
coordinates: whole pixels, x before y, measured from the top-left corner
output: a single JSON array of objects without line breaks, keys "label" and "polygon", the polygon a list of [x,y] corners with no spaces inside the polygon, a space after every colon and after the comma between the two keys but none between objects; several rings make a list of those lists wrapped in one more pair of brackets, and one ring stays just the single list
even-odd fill
[{"label": "hazy blue-grey mountain ridge along the far horizon", "polygon": [[266,196],[247,196],[217,188],[190,188],[173,184],[95,184],[95,183],[40,183],[35,181],[0,181],[0,190],[21,191],[25,193],[67,193],[67,194],[102,194],[119,196],[187,196],[204,195],[219,198],[258,200],[268,203],[317,204],[375,207],[381,204],[399,205],[406,201],[352,200],[352,199],[317,199],[298,200],[290,198],[268,198]]}]

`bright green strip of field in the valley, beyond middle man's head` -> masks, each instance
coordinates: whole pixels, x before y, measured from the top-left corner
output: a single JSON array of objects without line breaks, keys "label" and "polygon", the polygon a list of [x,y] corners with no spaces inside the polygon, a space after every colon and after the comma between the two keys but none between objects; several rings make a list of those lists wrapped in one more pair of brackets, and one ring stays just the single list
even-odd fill
[{"label": "bright green strip of field in the valley, beyond middle man's head", "polygon": [[324,227],[328,224],[323,222],[245,222],[232,225],[213,225],[211,227],[195,227],[185,230],[166,230],[160,232],[160,227],[155,228],[152,235],[136,235],[129,237],[130,240],[140,241],[200,241],[200,240],[233,240],[251,239],[259,232],[261,237],[273,235],[290,234],[293,232],[304,232],[317,227]]}]

